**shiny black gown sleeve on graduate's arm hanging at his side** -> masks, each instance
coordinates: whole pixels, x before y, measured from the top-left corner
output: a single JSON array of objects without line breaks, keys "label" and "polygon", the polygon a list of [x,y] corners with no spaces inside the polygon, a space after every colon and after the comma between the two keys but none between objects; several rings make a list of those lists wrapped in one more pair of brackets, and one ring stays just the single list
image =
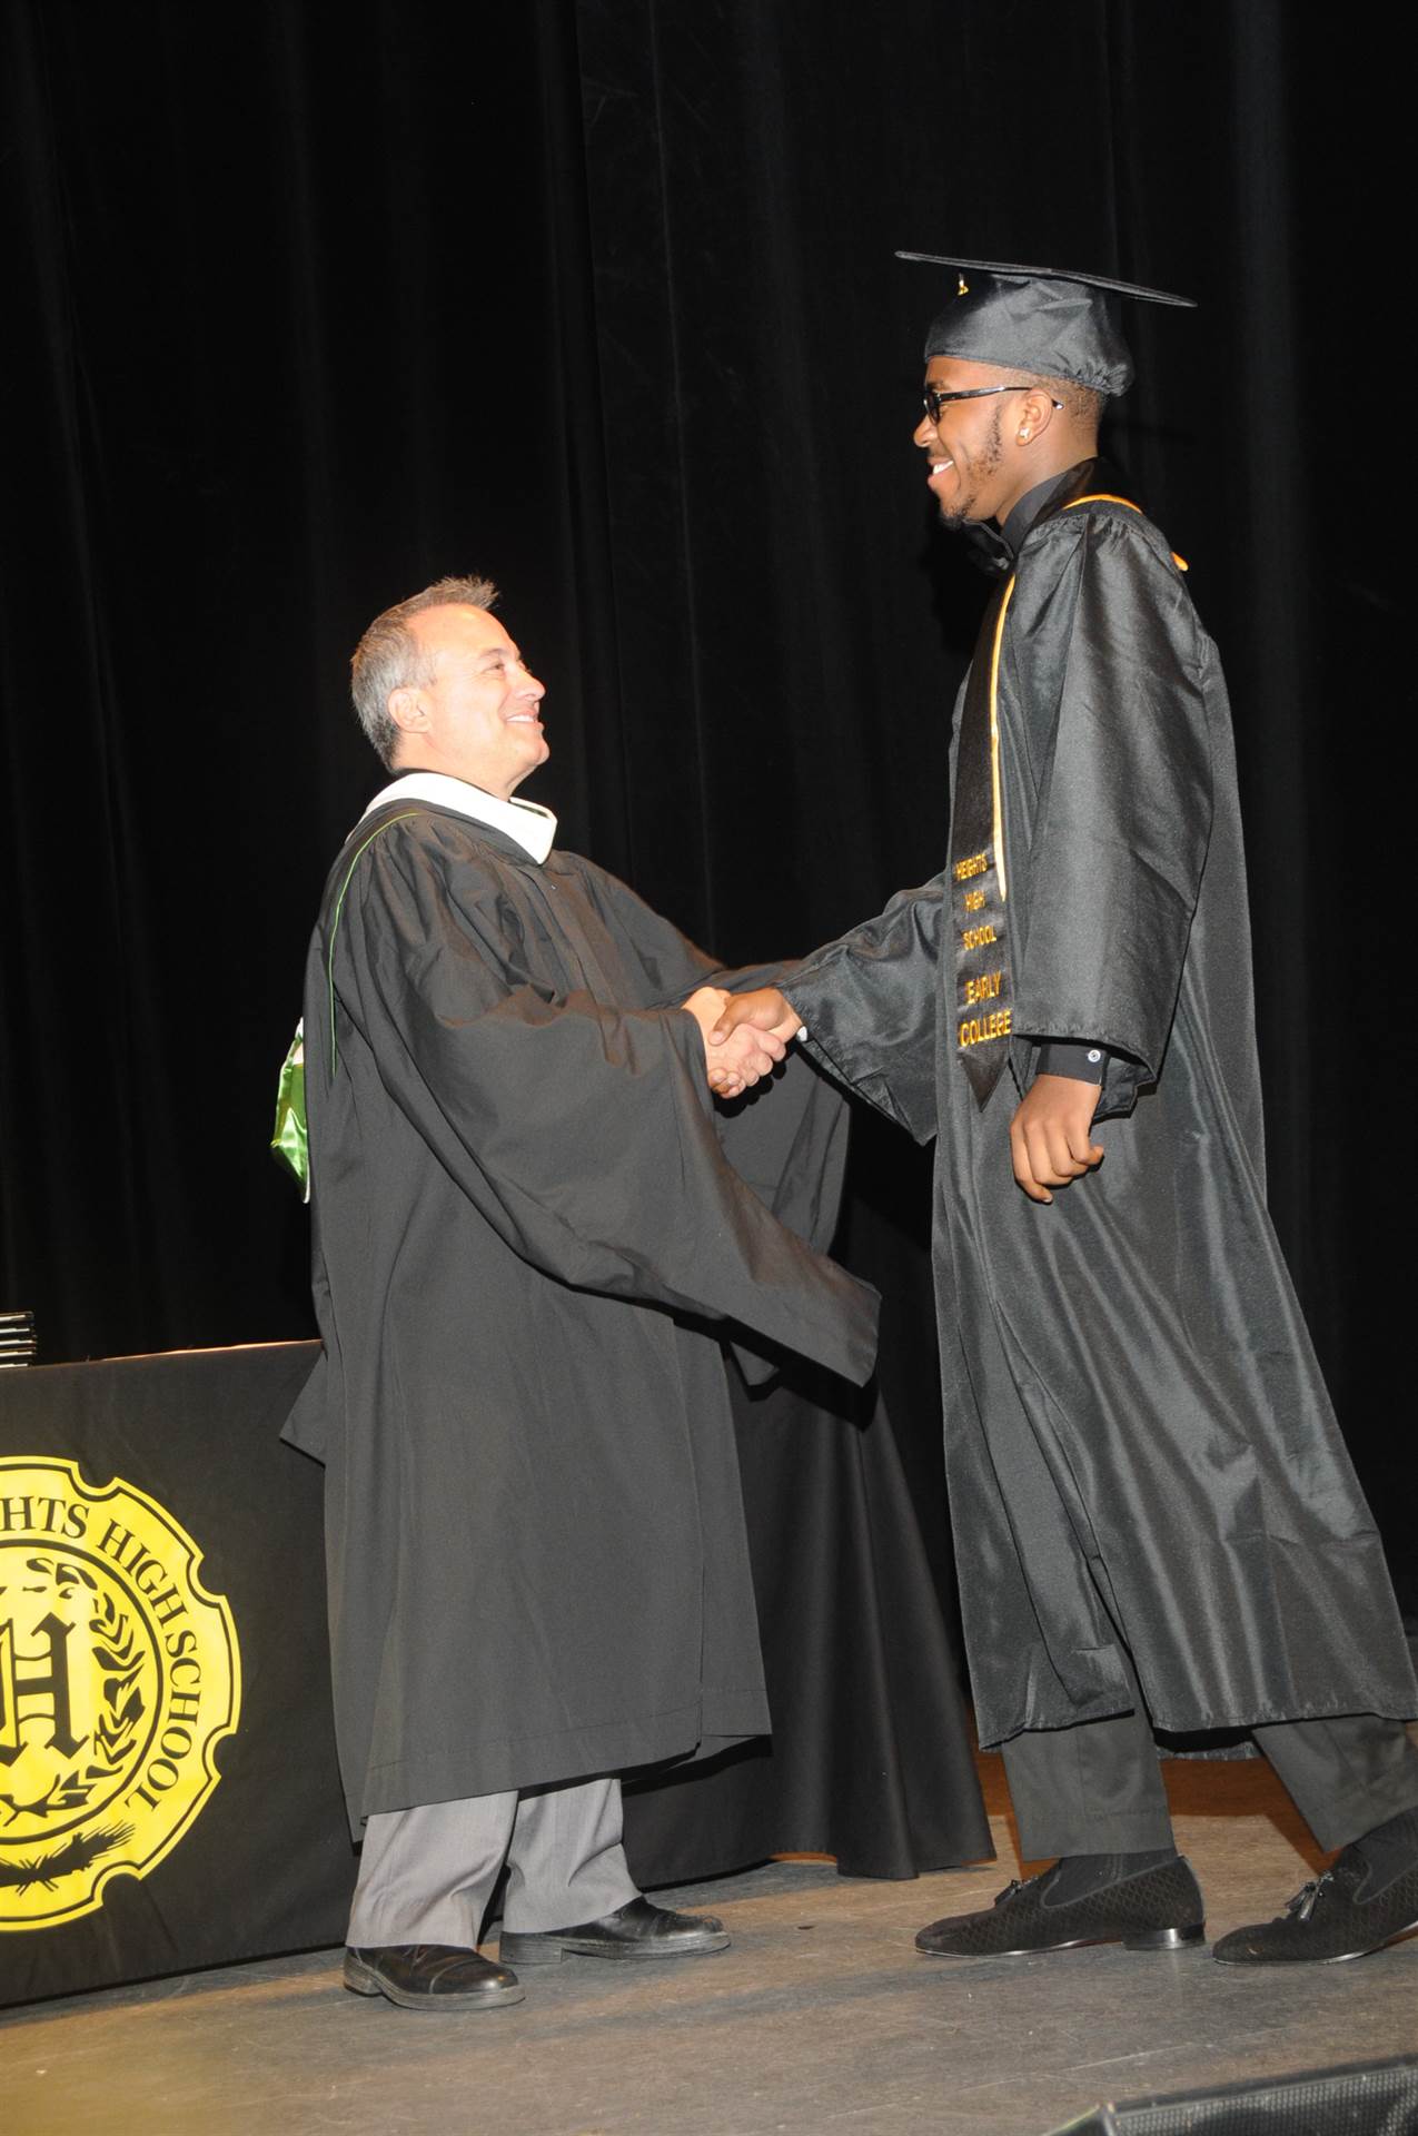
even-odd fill
[{"label": "shiny black gown sleeve on graduate's arm hanging at his side", "polygon": [[[1162,1072],[1211,837],[1196,611],[1121,513],[1089,519],[1059,709],[1014,867],[1014,1032],[1110,1055],[1100,1115]],[[1121,1057],[1119,1057],[1121,1055]]]}]

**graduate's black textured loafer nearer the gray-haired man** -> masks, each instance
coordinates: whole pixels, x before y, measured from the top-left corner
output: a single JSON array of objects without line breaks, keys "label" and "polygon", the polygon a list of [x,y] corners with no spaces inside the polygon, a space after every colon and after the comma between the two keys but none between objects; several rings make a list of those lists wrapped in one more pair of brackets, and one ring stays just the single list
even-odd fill
[{"label": "graduate's black textured loafer nearer the gray-haired man", "polygon": [[1029,1950],[1125,1944],[1128,1950],[1181,1950],[1207,1933],[1202,1895],[1181,1854],[1155,1869],[1104,1884],[1083,1899],[1049,1903],[1059,1865],[1008,1884],[989,1914],[952,1914],[916,1937],[931,1959],[1019,1959]]}]

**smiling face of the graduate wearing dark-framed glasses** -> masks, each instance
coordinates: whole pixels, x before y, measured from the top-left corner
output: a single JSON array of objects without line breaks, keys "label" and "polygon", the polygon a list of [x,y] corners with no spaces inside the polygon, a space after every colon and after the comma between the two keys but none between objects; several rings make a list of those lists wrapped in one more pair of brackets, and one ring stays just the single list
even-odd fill
[{"label": "smiling face of the graduate wearing dark-framed glasses", "polygon": [[[927,387],[942,393],[999,387],[1008,378],[1010,372],[993,363],[965,363],[961,357],[931,357],[925,372]],[[1004,523],[1055,461],[1070,466],[1053,451],[1061,442],[1057,414],[1040,387],[1006,387],[1004,393],[946,402],[938,417],[925,414],[912,442],[927,455],[927,487],[946,525],[978,519]],[[1068,451],[1074,451],[1072,444]]]}]

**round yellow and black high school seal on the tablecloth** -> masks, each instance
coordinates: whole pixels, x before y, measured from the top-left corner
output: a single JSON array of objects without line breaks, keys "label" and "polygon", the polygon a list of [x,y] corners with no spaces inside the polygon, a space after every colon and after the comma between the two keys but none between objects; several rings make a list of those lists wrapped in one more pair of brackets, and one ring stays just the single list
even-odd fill
[{"label": "round yellow and black high school seal on the tablecloth", "polygon": [[145,1491],[0,1459],[0,1931],[92,1914],[216,1788],[241,1658],[199,1566]]}]

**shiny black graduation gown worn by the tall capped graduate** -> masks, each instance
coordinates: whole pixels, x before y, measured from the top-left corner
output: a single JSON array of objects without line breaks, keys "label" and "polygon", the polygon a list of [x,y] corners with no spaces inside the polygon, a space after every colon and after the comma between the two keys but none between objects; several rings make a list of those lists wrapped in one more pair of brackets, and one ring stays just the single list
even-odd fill
[{"label": "shiny black graduation gown worn by the tall capped graduate", "polygon": [[[1027,534],[1004,628],[1014,1036],[989,1102],[957,1053],[948,869],[790,983],[820,1059],[938,1134],[980,1739],[1125,1709],[1119,1636],[1164,1730],[1409,1715],[1380,1538],[1266,1215],[1217,651],[1140,513],[1059,508],[1110,487],[1089,472]],[[1008,1124],[1051,1036],[1113,1057],[1106,1160],[1040,1207],[1014,1185]]]}]

